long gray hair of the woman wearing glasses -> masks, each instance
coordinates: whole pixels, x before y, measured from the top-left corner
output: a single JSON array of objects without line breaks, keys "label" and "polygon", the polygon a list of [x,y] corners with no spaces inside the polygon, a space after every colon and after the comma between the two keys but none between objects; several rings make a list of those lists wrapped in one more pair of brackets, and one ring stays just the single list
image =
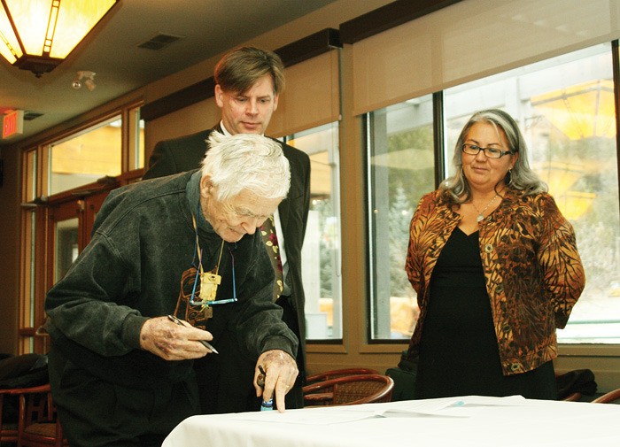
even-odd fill
[{"label": "long gray hair of the woman wearing glasses", "polygon": [[546,183],[541,181],[539,176],[531,170],[527,157],[527,144],[515,119],[507,112],[499,109],[489,109],[474,113],[461,130],[461,135],[459,135],[459,139],[454,147],[453,166],[456,168],[456,173],[441,182],[439,188],[443,189],[442,197],[451,204],[463,204],[471,198],[471,189],[463,174],[463,153],[461,148],[469,134],[469,129],[478,122],[491,124],[498,133],[500,130],[503,131],[508,140],[508,150],[518,152],[519,154],[515,166],[508,171],[504,179],[495,185],[496,191],[503,182],[508,188],[524,190],[526,195],[546,192],[548,190]]}]

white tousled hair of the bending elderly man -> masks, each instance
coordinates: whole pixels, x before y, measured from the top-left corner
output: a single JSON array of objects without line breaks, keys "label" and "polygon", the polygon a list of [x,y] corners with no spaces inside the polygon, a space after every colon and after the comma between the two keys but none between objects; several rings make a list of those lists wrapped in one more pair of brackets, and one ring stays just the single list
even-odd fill
[{"label": "white tousled hair of the bending elderly man", "polygon": [[226,136],[212,132],[202,174],[211,177],[220,201],[244,189],[259,197],[283,198],[291,186],[289,160],[281,144],[257,134]]}]

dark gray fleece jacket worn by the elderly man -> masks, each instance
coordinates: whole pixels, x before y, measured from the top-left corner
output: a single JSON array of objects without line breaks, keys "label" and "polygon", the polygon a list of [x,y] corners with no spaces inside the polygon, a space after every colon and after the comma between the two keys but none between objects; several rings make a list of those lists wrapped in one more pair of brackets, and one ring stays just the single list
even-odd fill
[{"label": "dark gray fleece jacket worn by the elderly man", "polygon": [[[191,361],[166,361],[140,349],[144,321],[174,312],[183,271],[195,260],[196,233],[205,271],[217,263],[221,238],[199,212],[200,172],[140,181],[113,190],[105,200],[88,246],[66,276],[50,289],[45,311],[53,349],[104,381],[148,387],[186,380]],[[241,352],[254,361],[279,349],[294,358],[297,337],[271,302],[274,274],[260,232],[225,243],[216,299],[206,329],[213,346],[235,334]],[[226,352],[221,352],[226,356]]]}]

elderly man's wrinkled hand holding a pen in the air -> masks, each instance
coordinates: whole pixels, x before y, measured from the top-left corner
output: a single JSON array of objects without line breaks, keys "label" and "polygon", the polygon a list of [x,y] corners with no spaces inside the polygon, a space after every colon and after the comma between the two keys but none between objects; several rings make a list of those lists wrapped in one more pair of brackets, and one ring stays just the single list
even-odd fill
[{"label": "elderly man's wrinkled hand holding a pen in the air", "polygon": [[178,325],[167,317],[146,320],[140,330],[140,347],[165,360],[201,358],[210,353],[198,340],[213,340],[213,335],[190,323]]}]

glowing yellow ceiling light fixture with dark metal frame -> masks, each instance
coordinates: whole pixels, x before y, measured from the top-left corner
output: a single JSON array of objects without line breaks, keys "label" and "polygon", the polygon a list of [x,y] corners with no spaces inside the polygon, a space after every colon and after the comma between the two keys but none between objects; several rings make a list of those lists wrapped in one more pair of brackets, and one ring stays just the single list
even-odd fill
[{"label": "glowing yellow ceiling light fixture with dark metal frame", "polygon": [[0,0],[0,55],[40,78],[120,0]]}]

